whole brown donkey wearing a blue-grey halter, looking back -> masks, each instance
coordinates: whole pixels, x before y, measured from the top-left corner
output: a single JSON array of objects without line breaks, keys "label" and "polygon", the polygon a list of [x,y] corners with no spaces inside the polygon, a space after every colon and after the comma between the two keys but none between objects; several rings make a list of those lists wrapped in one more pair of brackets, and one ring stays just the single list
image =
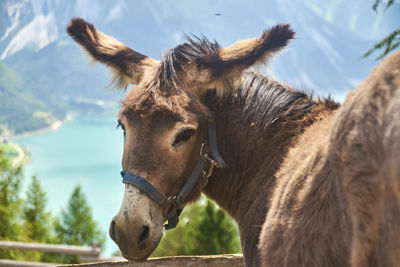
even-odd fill
[{"label": "whole brown donkey wearing a blue-grey halter, looking back", "polygon": [[247,70],[294,38],[286,24],[226,48],[188,38],[160,61],[80,18],[67,31],[135,85],[109,231],[125,258],[147,259],[203,192],[238,223],[246,266],[400,263],[400,52],[340,106]]}]

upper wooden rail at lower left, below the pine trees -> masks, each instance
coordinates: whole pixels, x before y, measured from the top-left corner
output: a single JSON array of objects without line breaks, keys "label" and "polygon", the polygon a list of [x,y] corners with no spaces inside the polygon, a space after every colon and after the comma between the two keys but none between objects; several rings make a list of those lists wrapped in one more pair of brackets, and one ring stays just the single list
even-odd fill
[{"label": "upper wooden rail at lower left, below the pine trees", "polygon": [[72,246],[62,244],[25,243],[16,241],[0,241],[0,249],[35,250],[62,254],[85,255],[91,257],[98,257],[101,252],[100,247],[95,246]]}]

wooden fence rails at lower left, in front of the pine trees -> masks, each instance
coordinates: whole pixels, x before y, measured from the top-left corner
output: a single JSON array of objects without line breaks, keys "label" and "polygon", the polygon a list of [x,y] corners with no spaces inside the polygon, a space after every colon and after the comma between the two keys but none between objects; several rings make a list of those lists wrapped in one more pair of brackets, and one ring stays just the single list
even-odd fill
[{"label": "wooden fence rails at lower left, in front of the pine trees", "polygon": [[[96,262],[104,260],[115,260],[121,258],[101,258],[100,246],[94,244],[93,246],[72,246],[63,244],[43,244],[43,243],[26,243],[16,241],[0,241],[0,249],[17,249],[17,250],[34,250],[41,252],[52,252],[60,254],[78,255],[81,262]],[[0,259],[0,266],[55,266],[56,263],[45,262],[24,262],[8,259]]]}]

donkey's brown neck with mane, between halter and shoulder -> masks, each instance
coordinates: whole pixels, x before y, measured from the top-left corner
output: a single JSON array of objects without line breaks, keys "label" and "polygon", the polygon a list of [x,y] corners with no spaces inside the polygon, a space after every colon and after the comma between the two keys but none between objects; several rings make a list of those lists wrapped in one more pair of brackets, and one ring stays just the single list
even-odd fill
[{"label": "donkey's brown neck with mane, between halter and shoulder", "polygon": [[275,173],[296,136],[313,123],[317,103],[251,73],[223,99],[210,99],[218,148],[228,166],[215,172],[204,193],[236,220],[246,264],[258,266],[256,246]]}]

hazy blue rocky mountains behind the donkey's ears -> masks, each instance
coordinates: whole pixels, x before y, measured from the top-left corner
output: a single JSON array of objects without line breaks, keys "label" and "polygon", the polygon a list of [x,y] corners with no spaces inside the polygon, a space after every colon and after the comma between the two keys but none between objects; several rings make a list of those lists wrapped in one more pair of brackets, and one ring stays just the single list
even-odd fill
[{"label": "hazy blue rocky mountains behind the donkey's ears", "polygon": [[45,105],[69,112],[81,100],[123,97],[107,88],[108,71],[88,64],[88,57],[66,35],[72,17],[92,22],[155,59],[184,42],[185,34],[205,35],[226,46],[259,36],[274,24],[290,23],[296,39],[273,60],[269,75],[318,94],[331,93],[341,101],[376,65],[373,58],[361,59],[362,54],[399,28],[400,5],[377,14],[373,2],[3,0],[0,58],[29,81],[25,89],[49,98],[42,101]]}]

